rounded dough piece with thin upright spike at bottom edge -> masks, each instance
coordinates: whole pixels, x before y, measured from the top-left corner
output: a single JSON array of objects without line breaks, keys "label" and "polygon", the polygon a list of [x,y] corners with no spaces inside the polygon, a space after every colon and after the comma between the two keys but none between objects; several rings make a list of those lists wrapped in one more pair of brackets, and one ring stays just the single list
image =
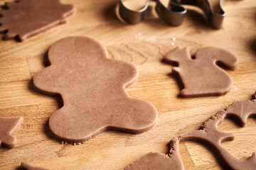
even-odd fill
[{"label": "rounded dough piece with thin upright spike at bottom edge", "polygon": [[136,162],[130,164],[124,170],[182,170],[183,164],[181,157],[178,154],[178,145],[174,145],[175,142],[178,142],[176,138],[171,142],[170,154],[161,154],[158,152],[150,152],[144,157],[140,158]]}]

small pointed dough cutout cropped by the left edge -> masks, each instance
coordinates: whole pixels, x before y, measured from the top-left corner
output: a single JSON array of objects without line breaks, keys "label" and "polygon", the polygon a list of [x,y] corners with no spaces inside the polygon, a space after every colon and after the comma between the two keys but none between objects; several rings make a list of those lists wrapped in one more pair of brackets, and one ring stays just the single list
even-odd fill
[{"label": "small pointed dough cutout cropped by the left edge", "polygon": [[21,127],[22,117],[18,118],[1,118],[0,117],[0,145],[13,148],[16,145],[14,134]]}]

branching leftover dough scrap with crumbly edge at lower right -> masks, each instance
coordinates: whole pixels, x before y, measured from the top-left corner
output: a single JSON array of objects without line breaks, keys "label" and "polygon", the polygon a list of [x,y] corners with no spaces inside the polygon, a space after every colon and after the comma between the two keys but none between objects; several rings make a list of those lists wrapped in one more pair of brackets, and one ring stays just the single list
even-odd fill
[{"label": "branching leftover dough scrap with crumbly edge at lower right", "polygon": [[256,167],[256,153],[253,153],[252,157],[249,159],[242,161],[233,157],[233,155],[228,152],[228,149],[225,149],[225,147],[221,145],[221,142],[234,140],[235,138],[231,133],[220,132],[220,130],[218,130],[218,125],[223,123],[223,120],[228,115],[235,115],[240,120],[241,125],[245,126],[247,118],[251,115],[256,115],[256,99],[248,101],[234,101],[230,106],[228,106],[226,111],[219,111],[206,120],[201,126],[201,130],[190,132],[183,135],[180,139],[182,141],[203,141],[204,143],[211,145],[219,152],[221,159],[223,159],[231,169],[253,170]]}]

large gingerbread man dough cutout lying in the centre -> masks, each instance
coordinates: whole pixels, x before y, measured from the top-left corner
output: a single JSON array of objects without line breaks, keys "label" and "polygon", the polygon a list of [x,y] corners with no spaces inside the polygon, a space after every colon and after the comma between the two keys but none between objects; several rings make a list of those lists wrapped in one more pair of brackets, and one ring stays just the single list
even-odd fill
[{"label": "large gingerbread man dough cutout lying in the centre", "polygon": [[58,40],[48,57],[50,67],[39,72],[33,83],[41,91],[63,98],[63,108],[49,120],[50,130],[61,140],[85,142],[107,129],[137,134],[156,124],[156,108],[130,98],[125,91],[137,81],[137,69],[107,59],[107,50],[96,40]]}]

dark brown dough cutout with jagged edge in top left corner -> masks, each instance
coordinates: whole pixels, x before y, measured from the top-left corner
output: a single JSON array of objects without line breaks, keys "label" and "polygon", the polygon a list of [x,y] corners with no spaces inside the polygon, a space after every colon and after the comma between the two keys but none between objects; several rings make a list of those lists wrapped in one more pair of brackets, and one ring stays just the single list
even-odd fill
[{"label": "dark brown dough cutout with jagged edge in top left corner", "polygon": [[67,22],[75,12],[73,5],[60,4],[60,0],[19,0],[5,2],[0,11],[0,32],[8,32],[4,39],[18,36],[23,41],[49,28]]}]

